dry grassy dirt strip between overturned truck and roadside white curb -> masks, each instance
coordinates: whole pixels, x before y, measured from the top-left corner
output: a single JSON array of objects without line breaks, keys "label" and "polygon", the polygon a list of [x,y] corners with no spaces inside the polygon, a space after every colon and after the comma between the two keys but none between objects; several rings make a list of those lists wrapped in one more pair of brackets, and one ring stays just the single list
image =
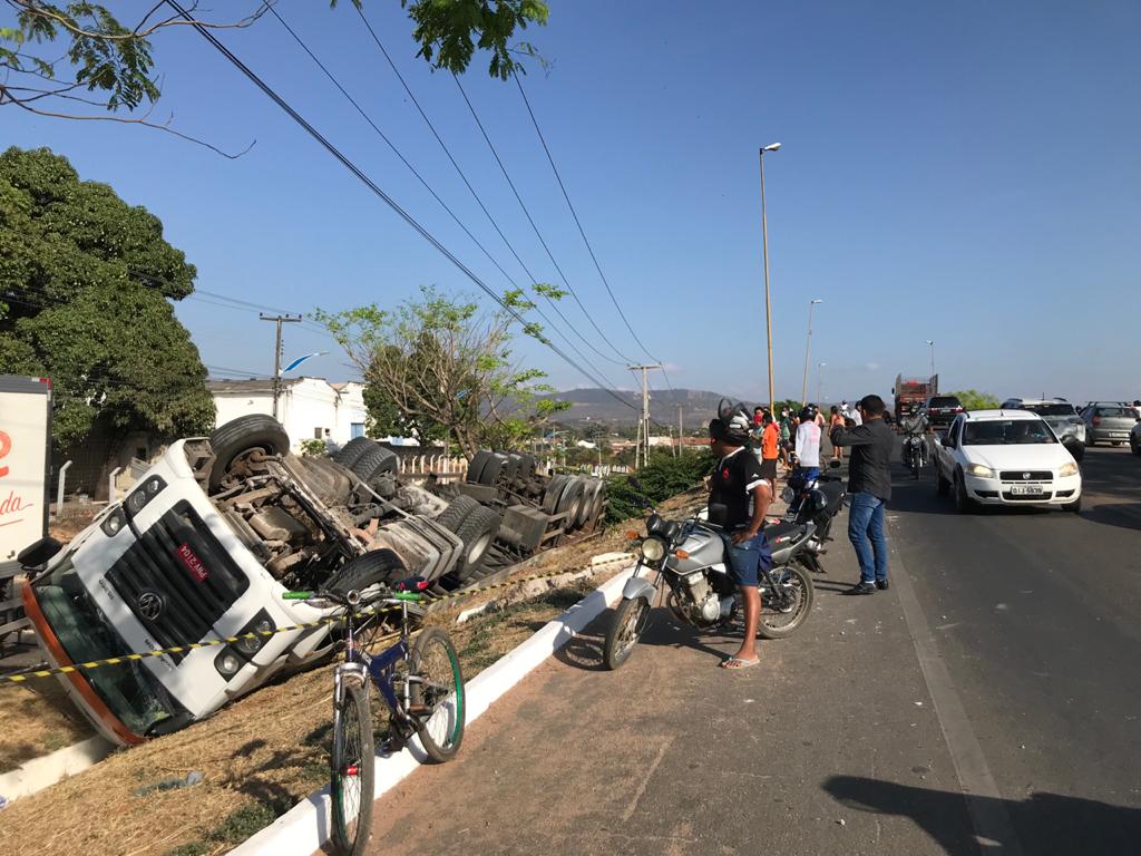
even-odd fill
[{"label": "dry grassy dirt strip between overturned truck and roadside white curb", "polygon": [[[701,496],[683,494],[661,510],[689,510]],[[640,523],[631,520],[599,538],[552,550],[521,573],[581,568],[591,556],[625,548],[624,530],[640,528]],[[475,677],[617,570],[609,565],[591,578],[453,628],[464,677]],[[483,599],[501,596],[497,591]],[[434,615],[431,621],[450,623],[451,617]],[[226,853],[325,783],[331,696],[329,670],[317,669],[265,687],[184,732],[118,752],[10,805],[0,814],[0,853]],[[171,786],[191,772],[201,773],[203,781]]]}]

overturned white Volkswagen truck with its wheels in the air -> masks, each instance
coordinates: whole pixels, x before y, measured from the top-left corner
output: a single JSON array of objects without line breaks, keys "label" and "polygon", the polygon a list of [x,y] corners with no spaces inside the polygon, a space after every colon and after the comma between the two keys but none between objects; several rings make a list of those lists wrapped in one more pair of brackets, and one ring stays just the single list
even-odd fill
[{"label": "overturned white Volkswagen truck with its wheels in the air", "polygon": [[[510,565],[528,550],[511,532],[496,547],[500,507],[398,478],[395,453],[364,438],[334,459],[298,458],[276,420],[242,417],[172,444],[66,548],[24,550],[24,607],[52,665],[121,659],[59,679],[102,734],[139,743],[333,649],[334,622],[273,632],[333,614],[283,600],[289,589],[413,575],[452,589],[480,579],[493,554]],[[251,631],[265,635],[189,647]],[[131,659],[164,648],[181,651]]]}]

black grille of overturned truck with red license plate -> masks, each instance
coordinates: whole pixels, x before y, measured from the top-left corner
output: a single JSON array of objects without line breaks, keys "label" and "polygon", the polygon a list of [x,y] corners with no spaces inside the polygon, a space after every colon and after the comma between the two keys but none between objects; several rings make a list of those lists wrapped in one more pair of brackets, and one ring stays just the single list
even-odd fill
[{"label": "black grille of overturned truck with red license plate", "polygon": [[[186,501],[141,534],[107,581],[164,648],[205,638],[250,586]],[[175,662],[183,656],[171,654]]]}]

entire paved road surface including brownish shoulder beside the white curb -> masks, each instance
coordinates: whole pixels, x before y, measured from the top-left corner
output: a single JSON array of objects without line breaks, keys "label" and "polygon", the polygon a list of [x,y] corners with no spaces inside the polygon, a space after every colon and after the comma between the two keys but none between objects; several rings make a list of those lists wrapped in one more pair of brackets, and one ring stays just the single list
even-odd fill
[{"label": "entire paved road surface including brownish shoulder beside the white curb", "polygon": [[607,615],[375,807],[386,854],[1141,851],[1141,459],[1094,450],[1085,510],[961,516],[900,468],[889,591],[717,669],[664,612],[617,672]]}]

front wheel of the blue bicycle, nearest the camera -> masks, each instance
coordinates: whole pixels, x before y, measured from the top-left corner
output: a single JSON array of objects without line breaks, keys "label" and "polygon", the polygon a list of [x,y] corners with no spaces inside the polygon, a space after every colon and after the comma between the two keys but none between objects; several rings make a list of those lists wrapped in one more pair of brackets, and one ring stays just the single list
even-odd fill
[{"label": "front wheel of the blue bicycle, nearest the camera", "polygon": [[345,700],[333,708],[333,753],[330,791],[332,839],[337,853],[362,856],[372,826],[372,717],[365,687],[346,686]]}]

